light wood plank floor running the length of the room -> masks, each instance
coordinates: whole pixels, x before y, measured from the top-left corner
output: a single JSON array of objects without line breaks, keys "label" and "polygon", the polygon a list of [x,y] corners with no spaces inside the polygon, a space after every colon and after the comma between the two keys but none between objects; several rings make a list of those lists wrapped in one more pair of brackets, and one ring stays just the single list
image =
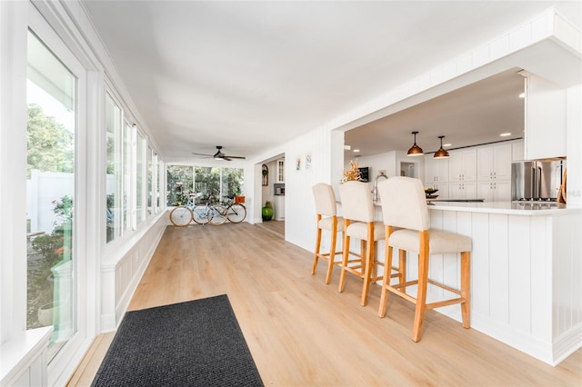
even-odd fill
[{"label": "light wood plank floor running the length of the room", "polygon": [[[362,307],[359,279],[338,293],[338,269],[326,285],[325,262],[313,276],[311,263],[248,223],[169,226],[129,310],[228,294],[266,385],[582,385],[582,350],[551,367],[435,311],[412,342],[412,304],[391,297],[380,319],[379,286]],[[91,383],[112,338],[95,340],[69,385]]]}]

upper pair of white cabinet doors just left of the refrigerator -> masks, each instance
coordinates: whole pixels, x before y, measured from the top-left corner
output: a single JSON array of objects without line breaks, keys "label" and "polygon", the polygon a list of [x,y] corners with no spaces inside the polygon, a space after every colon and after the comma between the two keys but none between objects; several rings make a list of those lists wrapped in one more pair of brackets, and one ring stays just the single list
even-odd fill
[{"label": "upper pair of white cabinet doors just left of the refrigerator", "polygon": [[511,179],[512,144],[487,145],[477,149],[477,180]]}]

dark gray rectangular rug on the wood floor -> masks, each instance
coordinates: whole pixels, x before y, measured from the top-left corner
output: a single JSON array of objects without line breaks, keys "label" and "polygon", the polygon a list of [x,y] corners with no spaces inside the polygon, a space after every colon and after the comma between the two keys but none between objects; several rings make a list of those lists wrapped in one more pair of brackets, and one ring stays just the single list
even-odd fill
[{"label": "dark gray rectangular rug on the wood floor", "polygon": [[93,386],[263,386],[226,294],[125,313]]}]

